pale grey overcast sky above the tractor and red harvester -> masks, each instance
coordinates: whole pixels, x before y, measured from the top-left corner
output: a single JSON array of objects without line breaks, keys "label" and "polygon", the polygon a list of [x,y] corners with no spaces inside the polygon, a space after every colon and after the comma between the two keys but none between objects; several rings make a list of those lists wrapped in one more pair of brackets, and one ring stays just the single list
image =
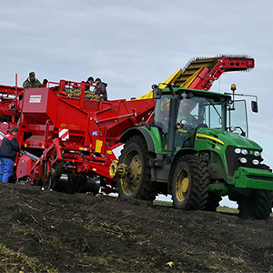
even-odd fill
[{"label": "pale grey overcast sky above the tractor and red harvester", "polygon": [[[1,0],[0,84],[100,77],[108,98],[142,96],[196,56],[247,55],[256,67],[211,90],[258,95],[249,136],[273,167],[272,0]],[[250,102],[249,102],[250,104]]]}]

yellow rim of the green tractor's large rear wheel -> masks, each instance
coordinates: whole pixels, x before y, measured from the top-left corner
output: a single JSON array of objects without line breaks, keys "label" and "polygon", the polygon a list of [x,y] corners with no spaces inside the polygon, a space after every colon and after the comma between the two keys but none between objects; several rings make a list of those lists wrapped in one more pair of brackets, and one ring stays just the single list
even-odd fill
[{"label": "yellow rim of the green tractor's large rear wheel", "polygon": [[136,150],[127,153],[123,161],[130,170],[130,174],[125,178],[120,178],[122,191],[126,196],[132,196],[141,182],[142,161]]}]

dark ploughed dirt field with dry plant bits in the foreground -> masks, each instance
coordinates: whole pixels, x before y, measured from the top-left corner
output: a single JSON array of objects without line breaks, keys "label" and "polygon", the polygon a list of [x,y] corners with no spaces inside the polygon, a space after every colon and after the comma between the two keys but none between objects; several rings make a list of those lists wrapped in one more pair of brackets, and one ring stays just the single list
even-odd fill
[{"label": "dark ploughed dirt field with dry plant bits in the foreground", "polygon": [[273,272],[273,220],[0,184],[1,272]]}]

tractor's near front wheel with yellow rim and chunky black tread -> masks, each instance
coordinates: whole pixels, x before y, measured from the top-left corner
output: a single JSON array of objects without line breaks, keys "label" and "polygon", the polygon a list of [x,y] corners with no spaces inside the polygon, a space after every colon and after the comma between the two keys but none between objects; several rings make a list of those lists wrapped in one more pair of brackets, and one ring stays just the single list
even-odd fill
[{"label": "tractor's near front wheel with yellow rim and chunky black tread", "polygon": [[171,174],[172,199],[179,209],[204,209],[208,197],[209,174],[206,161],[187,155],[177,161]]}]

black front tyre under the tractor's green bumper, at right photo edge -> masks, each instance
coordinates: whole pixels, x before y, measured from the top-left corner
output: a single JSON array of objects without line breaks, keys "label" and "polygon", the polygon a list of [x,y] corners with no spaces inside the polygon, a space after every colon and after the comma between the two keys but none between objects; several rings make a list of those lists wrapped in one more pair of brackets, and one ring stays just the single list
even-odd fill
[{"label": "black front tyre under the tractor's green bumper, at right photo edge", "polygon": [[[265,164],[261,164],[260,168],[272,172],[271,168]],[[273,192],[262,189],[252,189],[249,197],[239,197],[237,203],[239,217],[266,220],[272,211]]]}]

